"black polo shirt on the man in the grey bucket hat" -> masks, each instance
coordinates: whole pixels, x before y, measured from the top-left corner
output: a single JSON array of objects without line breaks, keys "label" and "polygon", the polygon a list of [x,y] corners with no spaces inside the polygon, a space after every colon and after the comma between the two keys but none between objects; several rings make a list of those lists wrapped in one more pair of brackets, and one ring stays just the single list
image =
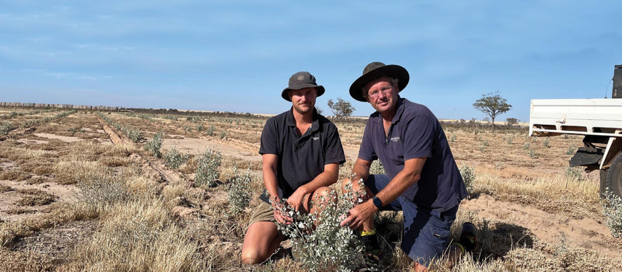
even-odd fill
[{"label": "black polo shirt on the man in the grey bucket hat", "polygon": [[[276,167],[279,197],[291,196],[324,171],[324,165],[346,161],[333,122],[313,109],[313,122],[304,135],[296,130],[293,109],[267,120],[261,132],[259,154],[279,156]],[[268,202],[267,190],[259,199]]]}]

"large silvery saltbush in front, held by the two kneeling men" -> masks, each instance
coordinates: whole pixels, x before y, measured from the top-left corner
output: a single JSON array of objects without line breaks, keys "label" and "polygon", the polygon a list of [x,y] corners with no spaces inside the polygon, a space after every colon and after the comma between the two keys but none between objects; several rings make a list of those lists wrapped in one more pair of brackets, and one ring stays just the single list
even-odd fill
[{"label": "large silvery saltbush in front, held by the two kneeling men", "polygon": [[[358,184],[364,188],[363,179]],[[323,199],[325,202],[313,203],[321,207],[322,212],[294,212],[287,206],[287,199],[276,205],[279,212],[292,219],[292,224],[277,223],[277,229],[290,237],[296,259],[309,271],[352,271],[363,263],[363,248],[355,231],[339,224],[355,202],[363,202],[365,193],[363,190],[353,191],[351,183],[346,184],[345,188],[348,193],[338,196],[332,191],[328,199]],[[333,203],[333,199],[337,200],[337,204]]]}]

